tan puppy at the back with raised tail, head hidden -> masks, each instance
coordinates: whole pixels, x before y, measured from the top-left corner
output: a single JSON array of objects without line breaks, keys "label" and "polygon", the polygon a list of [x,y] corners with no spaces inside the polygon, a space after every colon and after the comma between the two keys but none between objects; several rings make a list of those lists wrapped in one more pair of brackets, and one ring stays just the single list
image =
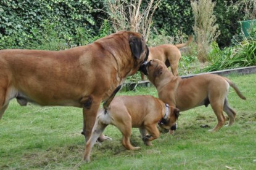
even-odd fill
[{"label": "tan puppy at the back with raised tail, head hidden", "polygon": [[[189,45],[192,42],[192,36],[189,36],[188,42],[183,44],[163,44],[156,47],[149,47],[149,58],[147,61],[152,59],[158,59],[165,63],[168,67],[171,67],[173,75],[178,76],[178,65],[181,58],[180,48]],[[141,79],[144,80],[144,74],[141,72]]]}]

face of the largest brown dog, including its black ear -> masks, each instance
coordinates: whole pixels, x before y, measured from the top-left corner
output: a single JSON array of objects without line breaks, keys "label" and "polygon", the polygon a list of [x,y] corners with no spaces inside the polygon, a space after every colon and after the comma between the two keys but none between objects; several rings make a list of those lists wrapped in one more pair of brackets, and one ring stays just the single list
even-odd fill
[{"label": "face of the largest brown dog, including its black ear", "polygon": [[134,58],[136,59],[134,63],[133,71],[130,75],[135,74],[139,69],[140,66],[147,62],[147,58],[149,56],[149,48],[146,45],[146,41],[144,37],[139,33],[130,33],[129,36],[129,45],[131,48],[131,53],[133,54]]}]

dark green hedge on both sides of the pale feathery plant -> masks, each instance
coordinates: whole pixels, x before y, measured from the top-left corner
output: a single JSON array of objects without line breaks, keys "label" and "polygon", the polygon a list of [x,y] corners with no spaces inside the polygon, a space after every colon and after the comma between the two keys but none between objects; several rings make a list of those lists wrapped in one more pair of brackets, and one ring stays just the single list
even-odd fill
[{"label": "dark green hedge on both sides of the pale feathery plant", "polygon": [[[239,22],[244,20],[244,6],[234,6],[239,0],[216,2],[214,15],[217,17],[217,24],[221,31],[217,39],[220,47],[231,44],[235,34],[240,33]],[[157,30],[164,30],[168,36],[177,34],[192,34],[194,15],[192,14],[191,2],[188,0],[168,1],[162,0],[159,8],[155,11],[154,25]]]}]

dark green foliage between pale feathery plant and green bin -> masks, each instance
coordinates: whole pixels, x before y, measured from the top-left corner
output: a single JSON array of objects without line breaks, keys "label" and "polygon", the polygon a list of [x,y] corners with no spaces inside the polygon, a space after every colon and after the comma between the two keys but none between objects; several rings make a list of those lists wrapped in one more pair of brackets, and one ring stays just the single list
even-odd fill
[{"label": "dark green foliage between pale feathery plant and green bin", "polygon": [[256,17],[255,0],[215,0],[214,14],[217,17],[217,24],[221,30],[221,35],[217,38],[218,45],[228,47],[236,39],[241,39],[241,28],[239,21],[250,20]]}]

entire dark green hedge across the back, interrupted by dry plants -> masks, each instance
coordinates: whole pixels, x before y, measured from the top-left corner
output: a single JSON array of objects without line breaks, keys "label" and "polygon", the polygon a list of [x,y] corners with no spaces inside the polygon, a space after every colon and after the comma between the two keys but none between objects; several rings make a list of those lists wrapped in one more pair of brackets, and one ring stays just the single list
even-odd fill
[{"label": "entire dark green hedge across the back, interrupted by dry plants", "polygon": [[[42,48],[59,49],[83,45],[110,33],[109,16],[103,12],[106,0],[1,0],[0,1],[0,49]],[[149,0],[147,0],[149,1]],[[240,30],[237,21],[243,20],[242,6],[233,10],[230,1],[217,2],[215,15],[221,30],[217,42],[228,46],[234,34]],[[145,4],[146,2],[143,1]],[[236,2],[236,0],[233,0]],[[102,9],[102,10],[98,10]],[[162,0],[155,11],[152,29],[167,36],[192,34],[194,17],[188,0]],[[44,47],[47,44],[48,47]]]}]

